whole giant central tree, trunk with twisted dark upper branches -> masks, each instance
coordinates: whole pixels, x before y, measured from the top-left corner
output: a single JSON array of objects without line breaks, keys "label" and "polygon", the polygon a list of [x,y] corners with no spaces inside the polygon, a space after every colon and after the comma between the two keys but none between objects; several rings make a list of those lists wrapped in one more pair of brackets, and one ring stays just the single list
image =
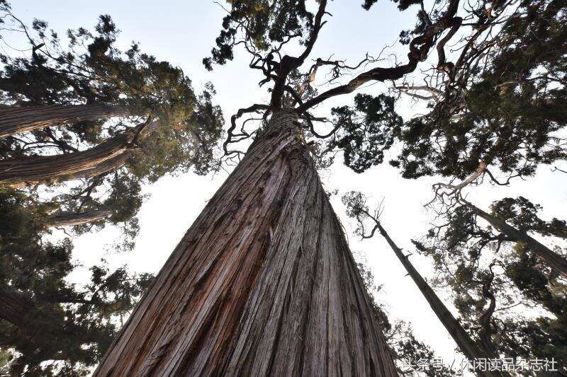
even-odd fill
[{"label": "whole giant central tree, trunk with twisted dark upper branches", "polygon": [[[311,13],[301,0],[230,2],[218,47],[204,63],[223,64],[234,47],[245,47],[251,68],[265,76],[262,84],[273,82],[270,103],[232,117],[226,157],[242,155],[231,144],[254,141],[159,272],[96,376],[397,374],[310,156],[306,138],[317,132],[309,110],[363,83],[415,70],[439,35],[458,27],[459,1],[437,4],[410,42],[407,63],[374,67],[317,94],[311,77],[332,63],[318,59],[299,79],[297,73],[326,22],[326,6],[321,0]],[[283,54],[299,36],[303,52]],[[380,98],[367,109],[380,115],[376,129],[389,119],[387,104]],[[255,112],[271,117],[254,132],[245,124],[237,131],[238,118]]]}]

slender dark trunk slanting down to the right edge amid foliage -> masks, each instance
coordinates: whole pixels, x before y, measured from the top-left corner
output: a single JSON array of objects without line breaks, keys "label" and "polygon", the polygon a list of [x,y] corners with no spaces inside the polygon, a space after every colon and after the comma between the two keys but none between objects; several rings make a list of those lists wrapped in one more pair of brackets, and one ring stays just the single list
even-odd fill
[{"label": "slender dark trunk slanting down to the right edge amid foliage", "polygon": [[550,248],[547,248],[545,245],[542,245],[541,243],[539,243],[539,241],[530,237],[526,232],[520,231],[513,226],[510,226],[505,221],[498,219],[498,217],[496,216],[488,214],[488,212],[483,211],[482,209],[474,206],[464,199],[461,200],[466,204],[468,208],[472,209],[475,214],[481,216],[481,218],[485,219],[485,221],[488,221],[490,225],[498,228],[506,236],[512,238],[512,240],[525,243],[529,247],[529,249],[532,250],[542,260],[544,260],[544,262],[546,262],[549,267],[555,269],[564,277],[567,277],[567,259],[555,253]]}]

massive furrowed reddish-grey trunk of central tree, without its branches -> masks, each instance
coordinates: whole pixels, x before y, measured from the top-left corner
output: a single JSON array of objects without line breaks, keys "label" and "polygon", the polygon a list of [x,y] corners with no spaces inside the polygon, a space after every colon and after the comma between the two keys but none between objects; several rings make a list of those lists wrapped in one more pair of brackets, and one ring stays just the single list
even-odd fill
[{"label": "massive furrowed reddish-grey trunk of central tree, without its branches", "polygon": [[272,116],[95,376],[398,376],[302,140]]}]

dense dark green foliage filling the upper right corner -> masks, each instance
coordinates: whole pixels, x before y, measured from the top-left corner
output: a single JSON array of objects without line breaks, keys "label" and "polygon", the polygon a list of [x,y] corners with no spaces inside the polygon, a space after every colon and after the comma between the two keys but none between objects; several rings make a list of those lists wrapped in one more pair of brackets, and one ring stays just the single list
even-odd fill
[{"label": "dense dark green foliage filling the upper right corner", "polygon": [[405,178],[462,180],[483,161],[513,177],[566,159],[566,10],[562,1],[526,1],[505,18],[483,59],[456,67],[431,112],[404,124],[393,166]]}]

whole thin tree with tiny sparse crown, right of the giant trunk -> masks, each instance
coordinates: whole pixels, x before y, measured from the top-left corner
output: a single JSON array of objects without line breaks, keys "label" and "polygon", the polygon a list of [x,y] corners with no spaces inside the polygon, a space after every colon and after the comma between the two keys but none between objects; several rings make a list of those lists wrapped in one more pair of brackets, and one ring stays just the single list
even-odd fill
[{"label": "whole thin tree with tiny sparse crown, right of the giant trunk", "polygon": [[[400,260],[405,270],[415,282],[415,285],[417,285],[417,288],[420,289],[427,303],[430,304],[435,315],[439,318],[439,321],[441,321],[442,325],[447,329],[447,332],[453,337],[461,352],[463,352],[469,360],[495,358],[496,354],[493,352],[493,349],[483,347],[481,344],[478,344],[478,342],[475,342],[471,338],[471,335],[468,335],[461,323],[459,323],[459,320],[452,315],[451,311],[444,305],[439,296],[435,294],[431,286],[427,284],[421,274],[417,272],[417,269],[415,269],[408,259],[409,255],[404,255],[403,251],[394,243],[379,221],[380,209],[378,208],[374,211],[374,214],[371,214],[369,207],[366,205],[366,197],[364,197],[361,192],[353,191],[345,194],[342,197],[342,202],[347,206],[347,215],[357,220],[357,233],[359,233],[359,236],[362,238],[371,238],[374,236],[374,233],[376,233],[376,230],[383,236],[395,256],[398,257],[398,260]],[[364,228],[364,221],[366,219],[370,219],[374,222],[370,233],[366,233]],[[478,370],[476,373],[481,376],[510,376],[509,373],[503,371]]]}]

